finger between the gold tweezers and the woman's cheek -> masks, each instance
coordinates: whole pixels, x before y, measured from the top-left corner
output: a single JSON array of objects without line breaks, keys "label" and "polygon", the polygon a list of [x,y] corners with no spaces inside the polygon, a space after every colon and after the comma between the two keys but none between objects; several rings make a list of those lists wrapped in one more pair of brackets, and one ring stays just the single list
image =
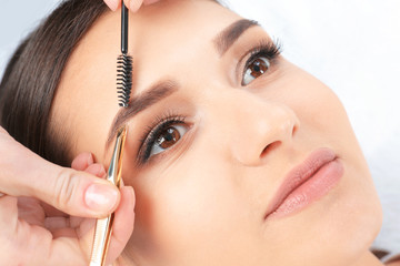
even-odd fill
[{"label": "finger between the gold tweezers and the woman's cheek", "polygon": [[107,264],[112,264],[127,246],[134,224],[134,192],[131,186],[121,187],[121,204],[116,211]]}]

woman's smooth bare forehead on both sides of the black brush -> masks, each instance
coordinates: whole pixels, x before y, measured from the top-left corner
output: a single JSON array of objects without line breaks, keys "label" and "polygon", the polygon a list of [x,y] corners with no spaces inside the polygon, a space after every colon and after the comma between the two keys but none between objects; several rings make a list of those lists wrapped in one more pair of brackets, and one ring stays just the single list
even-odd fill
[{"label": "woman's smooth bare forehead on both sides of the black brush", "polygon": [[[177,61],[216,53],[213,38],[239,17],[211,0],[172,0],[129,17],[134,93],[172,76]],[[53,116],[66,121],[74,154],[91,151],[101,162],[109,127],[119,110],[117,57],[120,12],[104,13],[70,57],[56,94]],[[181,65],[181,62],[180,62]],[[181,65],[182,66],[182,65]],[[96,137],[93,137],[96,135]]]}]

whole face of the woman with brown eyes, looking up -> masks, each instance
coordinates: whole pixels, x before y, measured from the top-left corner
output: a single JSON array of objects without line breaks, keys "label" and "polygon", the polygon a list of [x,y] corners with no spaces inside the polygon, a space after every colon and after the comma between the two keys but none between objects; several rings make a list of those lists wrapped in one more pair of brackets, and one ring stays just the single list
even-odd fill
[{"label": "whole face of the woman with brown eyes, looking up", "polygon": [[[119,21],[118,12],[106,13],[80,42],[52,117],[74,155],[91,151],[104,164],[118,112],[118,124],[129,126],[123,181],[137,206],[122,260],[351,265],[368,250],[380,206],[329,88],[228,9],[161,1],[130,14],[133,92],[130,108],[120,109]],[[323,160],[331,163],[268,215]]]}]

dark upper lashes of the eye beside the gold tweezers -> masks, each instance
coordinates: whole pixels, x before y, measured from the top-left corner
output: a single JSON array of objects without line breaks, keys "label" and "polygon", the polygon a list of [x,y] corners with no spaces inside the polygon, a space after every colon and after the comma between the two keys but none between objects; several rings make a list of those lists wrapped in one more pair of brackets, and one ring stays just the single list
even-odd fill
[{"label": "dark upper lashes of the eye beside the gold tweezers", "polygon": [[186,117],[173,112],[166,112],[154,117],[151,125],[147,126],[140,139],[140,150],[138,154],[139,164],[144,164],[149,157],[159,134],[174,124],[184,124]]}]

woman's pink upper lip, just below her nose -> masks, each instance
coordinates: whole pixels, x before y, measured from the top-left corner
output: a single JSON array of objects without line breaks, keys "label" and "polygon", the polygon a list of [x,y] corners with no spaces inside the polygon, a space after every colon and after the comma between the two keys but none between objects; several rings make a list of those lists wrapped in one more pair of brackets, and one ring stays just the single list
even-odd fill
[{"label": "woman's pink upper lip, just below her nose", "polygon": [[311,152],[301,164],[290,170],[269,204],[264,218],[277,211],[290,193],[311,178],[323,165],[336,158],[337,155],[332,150],[322,147]]}]

